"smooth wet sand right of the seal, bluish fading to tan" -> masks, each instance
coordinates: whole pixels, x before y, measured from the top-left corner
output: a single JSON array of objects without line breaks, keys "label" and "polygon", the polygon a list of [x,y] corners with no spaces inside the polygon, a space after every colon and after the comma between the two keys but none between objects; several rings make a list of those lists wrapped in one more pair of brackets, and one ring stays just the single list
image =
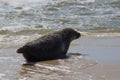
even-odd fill
[{"label": "smooth wet sand right of the seal, bluish fading to tan", "polygon": [[93,75],[92,80],[120,79],[120,38],[91,38],[84,37],[76,41],[71,52],[80,52],[85,58],[93,59],[96,65],[83,70]]}]

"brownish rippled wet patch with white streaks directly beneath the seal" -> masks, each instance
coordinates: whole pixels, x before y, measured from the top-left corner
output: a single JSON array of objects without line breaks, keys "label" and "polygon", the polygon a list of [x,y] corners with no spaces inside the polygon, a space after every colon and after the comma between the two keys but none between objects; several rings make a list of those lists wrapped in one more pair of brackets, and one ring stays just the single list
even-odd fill
[{"label": "brownish rippled wet patch with white streaks directly beneath the seal", "polygon": [[19,74],[26,79],[71,80],[72,77],[72,79],[79,79],[78,75],[81,78],[88,76],[88,74],[83,74],[81,71],[94,65],[96,65],[95,61],[84,59],[81,55],[71,56],[67,59],[42,61],[34,66],[23,65]]}]

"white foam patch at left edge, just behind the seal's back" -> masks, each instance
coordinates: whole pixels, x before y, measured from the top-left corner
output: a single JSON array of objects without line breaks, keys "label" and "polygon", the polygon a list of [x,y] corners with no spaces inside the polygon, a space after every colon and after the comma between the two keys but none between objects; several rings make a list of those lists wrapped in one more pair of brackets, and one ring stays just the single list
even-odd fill
[{"label": "white foam patch at left edge, just behind the seal's back", "polygon": [[41,35],[33,34],[33,35],[1,35],[0,38],[0,48],[9,48],[16,47],[25,44],[28,41],[32,41],[36,38],[39,38]]}]

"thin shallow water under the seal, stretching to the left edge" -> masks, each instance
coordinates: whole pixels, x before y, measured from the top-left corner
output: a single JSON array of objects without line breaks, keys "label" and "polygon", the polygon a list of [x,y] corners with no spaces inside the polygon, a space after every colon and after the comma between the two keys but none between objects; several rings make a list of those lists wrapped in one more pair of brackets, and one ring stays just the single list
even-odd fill
[{"label": "thin shallow water under the seal, stretching to the left edge", "polygon": [[23,66],[24,59],[15,50],[0,50],[1,80],[89,80],[91,75],[81,73],[81,70],[96,65],[93,60],[73,56],[39,62],[35,66]]}]

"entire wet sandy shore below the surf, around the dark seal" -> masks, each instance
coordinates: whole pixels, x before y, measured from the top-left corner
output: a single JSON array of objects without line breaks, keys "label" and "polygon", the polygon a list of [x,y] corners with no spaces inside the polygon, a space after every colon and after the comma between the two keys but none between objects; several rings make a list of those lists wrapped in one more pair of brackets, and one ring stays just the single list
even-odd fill
[{"label": "entire wet sandy shore below the surf, around the dark seal", "polygon": [[23,66],[17,48],[0,49],[0,80],[119,80],[120,38],[82,37],[72,42],[68,59]]}]

